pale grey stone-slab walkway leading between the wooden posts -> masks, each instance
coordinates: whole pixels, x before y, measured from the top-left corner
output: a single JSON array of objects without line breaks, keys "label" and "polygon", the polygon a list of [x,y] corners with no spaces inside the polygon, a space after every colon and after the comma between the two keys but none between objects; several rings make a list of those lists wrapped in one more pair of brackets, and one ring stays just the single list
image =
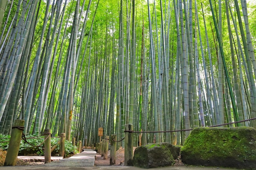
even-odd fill
[{"label": "pale grey stone-slab walkway leading between the wooden posts", "polygon": [[41,166],[94,166],[96,151],[85,149],[80,154],[76,154],[67,159],[60,159],[45,163]]}]

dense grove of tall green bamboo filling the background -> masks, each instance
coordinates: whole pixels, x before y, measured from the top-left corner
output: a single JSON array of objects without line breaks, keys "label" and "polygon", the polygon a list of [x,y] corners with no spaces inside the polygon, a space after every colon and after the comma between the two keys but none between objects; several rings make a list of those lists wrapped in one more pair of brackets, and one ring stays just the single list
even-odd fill
[{"label": "dense grove of tall green bamboo filling the background", "polygon": [[255,18],[254,0],[0,0],[0,133],[23,119],[90,145],[132,124],[138,146],[255,128]]}]

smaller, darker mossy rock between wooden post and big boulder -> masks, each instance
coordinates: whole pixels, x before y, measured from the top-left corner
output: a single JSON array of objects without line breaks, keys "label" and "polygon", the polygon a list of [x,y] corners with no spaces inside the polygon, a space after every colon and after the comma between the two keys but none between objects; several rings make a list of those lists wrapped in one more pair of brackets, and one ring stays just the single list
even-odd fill
[{"label": "smaller, darker mossy rock between wooden post and big boulder", "polygon": [[134,166],[142,168],[171,166],[179,155],[179,146],[173,146],[166,142],[147,144],[135,149],[132,163]]}]

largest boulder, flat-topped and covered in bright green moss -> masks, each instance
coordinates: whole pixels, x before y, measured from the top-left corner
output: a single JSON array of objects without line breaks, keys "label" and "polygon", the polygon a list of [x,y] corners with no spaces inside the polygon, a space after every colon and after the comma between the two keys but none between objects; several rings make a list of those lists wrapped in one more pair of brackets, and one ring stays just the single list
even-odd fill
[{"label": "largest boulder, flat-topped and covered in bright green moss", "polygon": [[256,130],[195,128],[181,148],[184,164],[256,169]]}]

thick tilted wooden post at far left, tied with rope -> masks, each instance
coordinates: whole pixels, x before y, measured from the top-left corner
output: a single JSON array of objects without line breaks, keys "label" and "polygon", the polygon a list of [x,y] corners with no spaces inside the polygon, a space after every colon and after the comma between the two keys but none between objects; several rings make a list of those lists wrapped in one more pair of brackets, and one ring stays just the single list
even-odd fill
[{"label": "thick tilted wooden post at far left, tied with rope", "polygon": [[[16,119],[13,122],[11,130],[11,139],[7,150],[4,166],[15,166],[18,152],[20,149],[20,141],[22,137],[22,127],[24,128],[25,120]],[[20,126],[20,128],[19,128]]]}]

